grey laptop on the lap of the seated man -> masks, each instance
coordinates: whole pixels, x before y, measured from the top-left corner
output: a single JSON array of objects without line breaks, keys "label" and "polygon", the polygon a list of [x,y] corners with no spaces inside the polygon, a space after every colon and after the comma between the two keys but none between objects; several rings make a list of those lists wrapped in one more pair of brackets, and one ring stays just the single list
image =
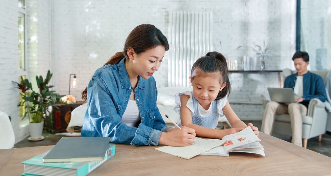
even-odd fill
[{"label": "grey laptop on the lap of the seated man", "polygon": [[295,103],[292,88],[268,88],[271,101],[279,103]]}]

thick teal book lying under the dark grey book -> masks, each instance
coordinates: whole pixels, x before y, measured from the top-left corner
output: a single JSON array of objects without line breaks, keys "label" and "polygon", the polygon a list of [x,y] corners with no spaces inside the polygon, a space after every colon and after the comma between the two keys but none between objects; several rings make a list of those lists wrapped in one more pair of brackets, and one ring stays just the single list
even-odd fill
[{"label": "thick teal book lying under the dark grey book", "polygon": [[115,155],[115,145],[108,144],[108,149],[105,151],[102,161],[50,163],[43,162],[43,157],[49,152],[46,151],[22,162],[22,164],[24,164],[24,173],[22,176],[84,176],[113,157]]}]

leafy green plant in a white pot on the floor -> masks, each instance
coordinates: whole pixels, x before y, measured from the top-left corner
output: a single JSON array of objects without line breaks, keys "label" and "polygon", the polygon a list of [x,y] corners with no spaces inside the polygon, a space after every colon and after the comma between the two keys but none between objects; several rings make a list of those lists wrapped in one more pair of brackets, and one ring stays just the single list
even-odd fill
[{"label": "leafy green plant in a white pot on the floor", "polygon": [[51,72],[48,70],[46,78],[36,76],[38,90],[32,88],[32,84],[28,79],[21,77],[21,82],[17,83],[19,89],[22,90],[22,101],[19,106],[25,106],[25,114],[23,116],[29,119],[29,131],[31,140],[41,139],[44,117],[46,114],[51,114],[49,107],[55,104],[56,98],[59,95],[55,91],[49,90],[54,86],[49,86],[48,83],[52,78]]}]

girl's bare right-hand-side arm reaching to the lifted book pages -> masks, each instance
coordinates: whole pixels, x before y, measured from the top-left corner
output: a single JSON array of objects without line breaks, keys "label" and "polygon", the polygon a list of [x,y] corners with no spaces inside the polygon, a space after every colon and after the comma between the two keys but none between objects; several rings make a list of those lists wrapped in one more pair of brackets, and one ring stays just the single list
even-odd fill
[{"label": "girl's bare right-hand-side arm reaching to the lifted book pages", "polygon": [[259,129],[255,126],[253,126],[252,123],[249,123],[248,125],[246,125],[243,121],[241,121],[239,119],[239,117],[237,116],[237,114],[231,108],[228,100],[226,101],[226,104],[222,110],[223,110],[223,113],[224,113],[226,119],[230,122],[230,124],[233,128],[246,128],[247,126],[251,126],[253,132],[257,136],[259,136],[259,133],[260,133]]}]

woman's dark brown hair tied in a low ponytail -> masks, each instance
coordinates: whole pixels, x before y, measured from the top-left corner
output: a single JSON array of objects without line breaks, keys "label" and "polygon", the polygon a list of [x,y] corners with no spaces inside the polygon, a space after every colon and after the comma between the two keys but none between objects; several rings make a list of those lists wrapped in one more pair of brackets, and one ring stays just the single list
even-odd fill
[{"label": "woman's dark brown hair tied in a low ponytail", "polygon": [[[127,59],[127,50],[129,48],[133,48],[135,53],[140,54],[161,45],[165,47],[166,51],[169,50],[168,40],[161,30],[157,29],[154,25],[139,25],[127,36],[123,51],[117,52],[105,65],[117,64],[124,57]],[[87,88],[82,91],[82,98],[85,102],[87,99]]]}]

